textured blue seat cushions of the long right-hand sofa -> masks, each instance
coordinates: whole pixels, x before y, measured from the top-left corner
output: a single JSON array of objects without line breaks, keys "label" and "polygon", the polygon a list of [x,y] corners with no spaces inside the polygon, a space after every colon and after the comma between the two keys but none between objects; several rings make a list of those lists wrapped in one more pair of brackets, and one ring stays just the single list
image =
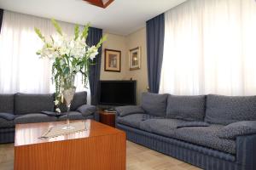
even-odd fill
[{"label": "textured blue seat cushions of the long right-hand sofa", "polygon": [[140,128],[149,133],[180,139],[230,154],[236,153],[236,142],[234,140],[218,138],[218,130],[224,127],[223,125],[177,128],[182,123],[186,123],[186,121],[178,119],[148,119],[140,123]]}]

